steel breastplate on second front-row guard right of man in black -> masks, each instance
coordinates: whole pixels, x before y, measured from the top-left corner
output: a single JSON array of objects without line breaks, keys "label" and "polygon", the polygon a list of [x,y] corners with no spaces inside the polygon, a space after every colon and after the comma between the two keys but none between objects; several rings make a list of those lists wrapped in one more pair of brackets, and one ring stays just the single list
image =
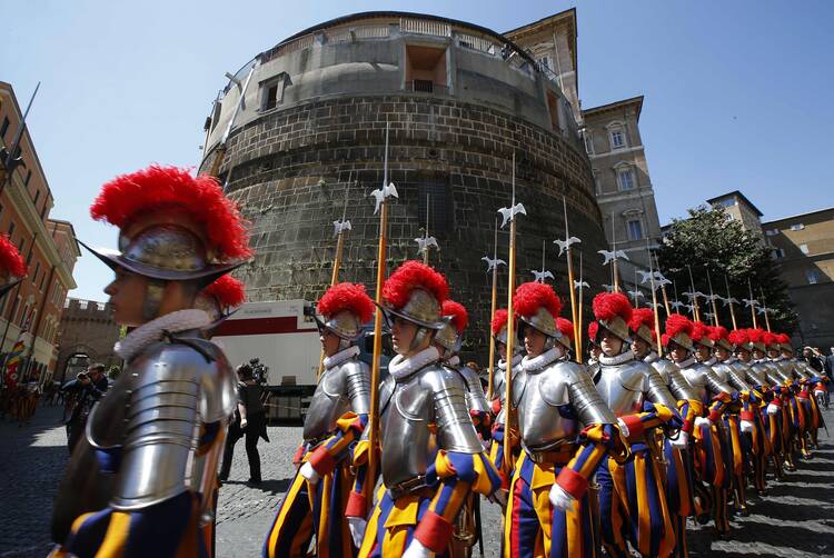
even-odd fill
[{"label": "steel breastplate on second front-row guard right of man in black", "polygon": [[390,487],[426,474],[437,449],[478,454],[478,435],[456,372],[429,365],[380,389],[381,471]]}]

